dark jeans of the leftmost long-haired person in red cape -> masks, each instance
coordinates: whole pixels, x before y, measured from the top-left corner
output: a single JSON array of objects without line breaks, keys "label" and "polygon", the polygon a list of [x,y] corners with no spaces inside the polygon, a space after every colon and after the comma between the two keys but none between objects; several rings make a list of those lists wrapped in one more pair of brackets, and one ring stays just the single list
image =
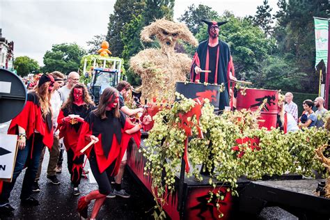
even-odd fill
[{"label": "dark jeans of the leftmost long-haired person in red cape", "polygon": [[[34,135],[34,139],[33,139]],[[27,167],[21,190],[21,199],[29,198],[32,194],[32,185],[38,171],[40,155],[42,152],[42,136],[34,133],[30,139],[26,140],[26,146],[23,150],[17,151],[16,163],[12,182],[3,182],[2,194],[0,195],[0,205],[9,203],[10,192],[13,190],[17,177],[23,168]],[[32,143],[33,141],[33,143]],[[32,158],[31,150],[33,146]]]}]

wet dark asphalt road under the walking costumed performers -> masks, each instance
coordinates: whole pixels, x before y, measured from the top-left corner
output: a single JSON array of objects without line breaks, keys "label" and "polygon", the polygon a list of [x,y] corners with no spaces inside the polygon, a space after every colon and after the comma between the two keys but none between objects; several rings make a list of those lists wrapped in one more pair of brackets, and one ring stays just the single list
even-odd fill
[{"label": "wet dark asphalt road under the walking costumed performers", "polygon": [[[0,124],[0,133],[6,133],[8,127]],[[73,188],[70,184],[70,174],[65,166],[66,153],[63,162],[63,171],[57,177],[61,184],[54,185],[47,179],[47,165],[49,152],[46,150],[45,159],[42,163],[42,174],[39,184],[41,191],[33,193],[33,196],[40,201],[36,207],[26,207],[20,204],[19,194],[22,188],[22,181],[25,170],[17,178],[17,182],[10,196],[10,204],[15,207],[15,212],[10,216],[0,213],[0,219],[79,219],[77,212],[77,201],[80,196],[85,196],[91,190],[97,189],[96,183],[90,183],[88,178],[83,178],[79,189],[80,196],[73,196]],[[86,168],[89,168],[87,162]],[[153,219],[151,214],[154,203],[152,198],[145,194],[139,184],[125,172],[123,189],[131,194],[131,198],[107,198],[102,206],[97,219]],[[89,205],[88,214],[91,214],[93,207]],[[150,212],[148,212],[150,211]]]}]

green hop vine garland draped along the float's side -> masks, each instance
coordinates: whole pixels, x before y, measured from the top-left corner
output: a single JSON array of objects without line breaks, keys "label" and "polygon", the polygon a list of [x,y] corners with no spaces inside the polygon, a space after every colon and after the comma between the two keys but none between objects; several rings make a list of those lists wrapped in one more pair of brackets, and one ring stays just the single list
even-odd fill
[{"label": "green hop vine garland draped along the float's side", "polygon": [[[141,149],[147,159],[144,174],[152,176],[153,195],[162,213],[157,217],[164,217],[162,206],[166,203],[166,191],[173,191],[175,176],[180,173],[186,135],[178,126],[181,123],[179,115],[187,113],[196,103],[183,95],[176,95],[180,101],[154,116],[155,125],[149,132],[146,148]],[[322,171],[321,163],[314,158],[314,149],[329,140],[326,129],[313,127],[288,134],[279,129],[259,129],[260,110],[224,111],[218,116],[214,114],[210,101],[205,100],[199,122],[203,138],[198,136],[196,117],[189,118],[194,126],[191,126],[188,145],[191,171],[187,177],[194,175],[196,181],[203,180],[198,166],[204,164],[204,169],[210,172],[209,183],[214,189],[217,186],[214,180],[226,182],[230,184],[228,191],[237,195],[237,179],[242,175],[258,180],[264,175],[283,175],[285,172],[312,176],[313,170]],[[249,141],[237,143],[237,139],[244,138],[257,139],[258,146],[251,148]],[[223,200],[218,191],[210,194],[217,196],[218,201]],[[217,208],[219,210],[219,203]],[[222,216],[219,212],[219,217]]]}]

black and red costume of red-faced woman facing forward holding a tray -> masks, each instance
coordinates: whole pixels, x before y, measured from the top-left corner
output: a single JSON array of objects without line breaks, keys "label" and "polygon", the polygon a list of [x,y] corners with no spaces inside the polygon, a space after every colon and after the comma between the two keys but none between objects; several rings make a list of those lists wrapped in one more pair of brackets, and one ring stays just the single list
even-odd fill
[{"label": "black and red costume of red-faced woman facing forward holding a tray", "polygon": [[72,103],[72,109],[62,109],[58,114],[58,128],[60,129],[59,138],[63,138],[65,148],[68,155],[68,170],[71,175],[71,182],[73,187],[78,187],[81,180],[81,173],[83,171],[84,155],[74,157],[74,152],[77,148],[79,134],[81,132],[81,125],[83,123],[75,123],[74,125],[63,121],[63,119],[71,114],[79,115],[81,118],[86,118],[88,114],[94,109],[93,104],[77,105]]}]

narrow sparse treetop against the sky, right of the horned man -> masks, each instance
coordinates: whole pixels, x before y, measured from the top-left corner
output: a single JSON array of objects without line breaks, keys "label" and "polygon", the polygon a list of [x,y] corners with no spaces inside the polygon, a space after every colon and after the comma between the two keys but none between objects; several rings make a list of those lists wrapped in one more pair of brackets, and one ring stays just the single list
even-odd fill
[{"label": "narrow sparse treetop against the sky, right of the horned man", "polygon": [[263,1],[262,6],[257,7],[256,15],[253,17],[253,23],[265,31],[266,36],[270,36],[272,33],[272,8],[268,4],[268,0]]}]

